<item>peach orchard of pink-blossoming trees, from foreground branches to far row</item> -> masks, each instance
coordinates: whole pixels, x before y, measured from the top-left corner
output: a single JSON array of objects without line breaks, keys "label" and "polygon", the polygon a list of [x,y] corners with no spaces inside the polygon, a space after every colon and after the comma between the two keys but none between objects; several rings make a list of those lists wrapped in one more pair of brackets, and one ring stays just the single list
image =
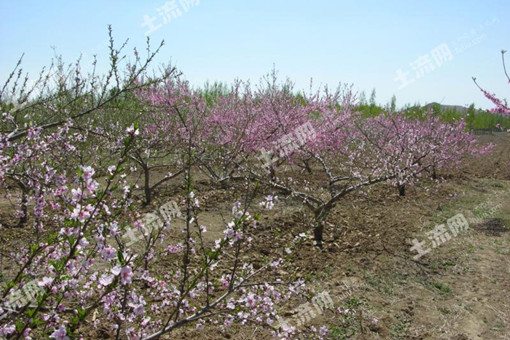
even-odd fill
[{"label": "peach orchard of pink-blossoming trees, from foreground branches to far row", "polygon": [[[253,204],[278,209],[276,196],[299,202],[322,247],[328,216],[346,195],[376,183],[405,195],[406,186],[491,148],[463,120],[366,117],[345,85],[297,93],[273,72],[258,86],[237,81],[204,92],[175,68],[149,76],[158,49],[148,45],[145,59],[135,50],[123,64],[123,47],[111,39],[104,76],[57,65],[29,87],[18,64],[0,92],[0,185],[16,207],[16,221],[2,223],[34,235],[33,244],[11,249],[0,336],[83,338],[86,328],[105,326],[116,339],[157,339],[189,324],[255,323],[292,337],[295,328],[275,325],[279,306],[303,282],[278,273],[283,252],[257,268],[242,260],[257,238]],[[506,102],[484,93],[496,113],[508,114]],[[245,188],[214,243],[204,239],[195,171],[212,186]],[[320,180],[294,178],[295,171]],[[145,225],[134,175],[143,178],[143,205],[164,183],[182,183],[182,230],[168,220]],[[259,193],[265,201],[254,202]],[[132,231],[142,235],[136,247],[124,237]],[[168,231],[180,241],[169,243]],[[292,248],[300,246],[296,239]],[[34,283],[37,294],[20,299]]]}]

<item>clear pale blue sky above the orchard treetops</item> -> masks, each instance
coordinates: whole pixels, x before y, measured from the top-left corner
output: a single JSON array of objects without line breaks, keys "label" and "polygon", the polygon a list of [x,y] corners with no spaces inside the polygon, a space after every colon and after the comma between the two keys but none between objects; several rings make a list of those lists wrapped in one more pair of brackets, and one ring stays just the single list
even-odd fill
[{"label": "clear pale blue sky above the orchard treetops", "polygon": [[[173,6],[173,7],[172,7]],[[164,9],[167,9],[165,11]],[[171,62],[192,84],[257,83],[275,66],[298,89],[353,84],[385,104],[437,101],[490,108],[471,77],[510,99],[501,49],[510,51],[510,1],[11,1],[0,0],[0,81],[22,53],[36,75],[52,47],[83,67],[98,54],[106,69],[107,25],[129,47],[165,40],[156,66]],[[509,52],[510,54],[510,52]],[[508,61],[510,64],[510,60]],[[509,65],[510,66],[510,65]],[[397,74],[407,79],[396,80]]]}]

